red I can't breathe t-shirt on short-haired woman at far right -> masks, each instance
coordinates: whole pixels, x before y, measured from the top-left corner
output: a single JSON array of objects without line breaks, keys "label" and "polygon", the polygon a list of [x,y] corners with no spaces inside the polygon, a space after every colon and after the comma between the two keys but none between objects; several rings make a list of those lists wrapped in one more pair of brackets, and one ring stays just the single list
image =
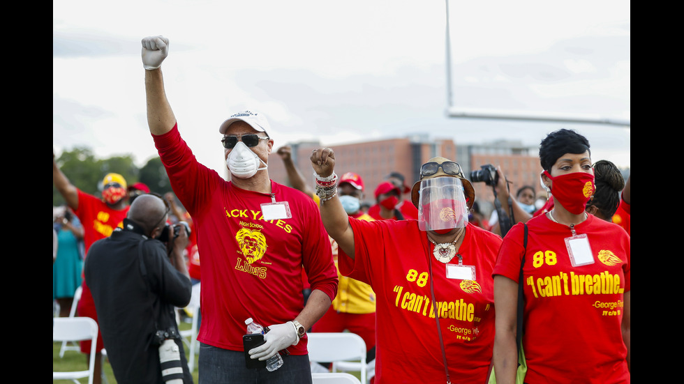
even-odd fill
[{"label": "red I can't breathe t-shirt on short-haired woman at far right", "polygon": [[630,291],[630,236],[593,215],[575,226],[586,233],[594,263],[573,267],[565,238],[570,228],[546,215],[503,239],[494,275],[515,282],[523,268],[523,350],[526,383],[629,383],[623,342],[623,296]]}]

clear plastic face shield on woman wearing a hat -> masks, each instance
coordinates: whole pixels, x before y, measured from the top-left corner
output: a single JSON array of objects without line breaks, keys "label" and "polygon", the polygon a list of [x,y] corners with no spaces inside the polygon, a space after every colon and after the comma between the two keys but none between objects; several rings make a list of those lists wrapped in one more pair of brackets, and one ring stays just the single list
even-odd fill
[{"label": "clear plastic face shield on woman wearing a hat", "polygon": [[460,178],[436,177],[420,183],[418,228],[421,231],[464,228],[468,205]]}]

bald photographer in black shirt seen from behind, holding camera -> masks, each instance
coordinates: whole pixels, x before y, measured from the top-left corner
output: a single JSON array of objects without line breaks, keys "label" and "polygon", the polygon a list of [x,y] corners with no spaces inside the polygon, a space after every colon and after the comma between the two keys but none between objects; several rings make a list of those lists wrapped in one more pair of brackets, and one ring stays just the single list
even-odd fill
[{"label": "bald photographer in black shirt seen from behind, holding camera", "polygon": [[193,382],[174,314],[191,298],[188,233],[166,224],[168,215],[161,197],[136,197],[124,228],[96,241],[85,261],[117,383]]}]

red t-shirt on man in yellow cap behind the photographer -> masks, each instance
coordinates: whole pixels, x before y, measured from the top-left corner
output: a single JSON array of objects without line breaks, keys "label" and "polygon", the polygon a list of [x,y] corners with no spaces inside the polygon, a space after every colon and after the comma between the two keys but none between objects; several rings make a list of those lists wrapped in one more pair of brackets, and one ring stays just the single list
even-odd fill
[{"label": "red t-shirt on man in yellow cap behind the photographer", "polygon": [[123,226],[122,223],[129,208],[131,206],[126,206],[122,210],[114,210],[101,199],[78,190],[78,208],[74,213],[83,223],[83,242],[86,254],[93,243],[101,238],[108,238],[117,226]]}]

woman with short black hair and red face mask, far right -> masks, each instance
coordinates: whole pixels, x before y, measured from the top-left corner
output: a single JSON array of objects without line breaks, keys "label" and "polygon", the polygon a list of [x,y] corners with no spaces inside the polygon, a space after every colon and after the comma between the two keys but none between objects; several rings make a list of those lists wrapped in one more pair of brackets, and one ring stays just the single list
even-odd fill
[{"label": "woman with short black hair and red face mask, far right", "polygon": [[585,137],[551,132],[540,162],[553,209],[513,226],[493,272],[497,383],[516,382],[518,342],[525,383],[630,383],[630,236],[585,211],[595,190]]}]

